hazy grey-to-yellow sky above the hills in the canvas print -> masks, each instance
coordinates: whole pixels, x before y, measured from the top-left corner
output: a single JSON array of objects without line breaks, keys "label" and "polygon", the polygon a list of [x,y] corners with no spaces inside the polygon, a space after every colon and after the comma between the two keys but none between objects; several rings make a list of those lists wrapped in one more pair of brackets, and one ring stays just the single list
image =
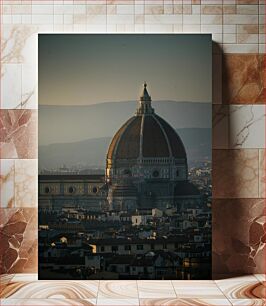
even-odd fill
[{"label": "hazy grey-to-yellow sky above the hills in the canvas print", "polygon": [[211,35],[40,34],[39,103],[211,102]]}]

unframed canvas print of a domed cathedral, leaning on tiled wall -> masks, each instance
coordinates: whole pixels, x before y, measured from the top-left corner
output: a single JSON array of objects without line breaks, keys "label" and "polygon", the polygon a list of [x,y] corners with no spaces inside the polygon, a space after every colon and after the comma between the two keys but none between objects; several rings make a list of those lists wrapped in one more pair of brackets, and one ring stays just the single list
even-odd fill
[{"label": "unframed canvas print of a domed cathedral, leaning on tiled wall", "polygon": [[211,278],[210,35],[39,35],[39,278]]}]

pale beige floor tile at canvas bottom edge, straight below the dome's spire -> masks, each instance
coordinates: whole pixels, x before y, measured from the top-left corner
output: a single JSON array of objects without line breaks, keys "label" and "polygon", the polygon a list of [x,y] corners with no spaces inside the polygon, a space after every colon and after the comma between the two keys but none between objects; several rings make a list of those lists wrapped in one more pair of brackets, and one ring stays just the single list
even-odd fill
[{"label": "pale beige floor tile at canvas bottom edge, straight below the dome's spire", "polygon": [[173,298],[176,293],[171,281],[137,281],[139,298]]}]

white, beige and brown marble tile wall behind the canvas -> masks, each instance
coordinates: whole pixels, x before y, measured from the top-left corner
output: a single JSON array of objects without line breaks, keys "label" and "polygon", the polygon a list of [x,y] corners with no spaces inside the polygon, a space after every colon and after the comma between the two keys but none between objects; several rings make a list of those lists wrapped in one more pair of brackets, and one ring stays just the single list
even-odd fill
[{"label": "white, beige and brown marble tile wall behind the canvas", "polygon": [[95,32],[212,33],[213,277],[265,273],[264,0],[1,0],[0,12],[2,273],[37,271],[38,33]]}]

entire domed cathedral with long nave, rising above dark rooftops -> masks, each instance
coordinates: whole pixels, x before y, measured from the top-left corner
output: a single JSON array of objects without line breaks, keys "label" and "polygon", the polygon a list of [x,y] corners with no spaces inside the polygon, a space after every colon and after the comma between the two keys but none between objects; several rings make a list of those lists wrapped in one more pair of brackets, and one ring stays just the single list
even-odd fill
[{"label": "entire domed cathedral with long nave, rising above dark rooftops", "polygon": [[200,204],[188,180],[187,155],[176,131],[152,107],[144,84],[136,113],[114,135],[105,176],[41,175],[39,204],[92,210],[181,209]]}]

